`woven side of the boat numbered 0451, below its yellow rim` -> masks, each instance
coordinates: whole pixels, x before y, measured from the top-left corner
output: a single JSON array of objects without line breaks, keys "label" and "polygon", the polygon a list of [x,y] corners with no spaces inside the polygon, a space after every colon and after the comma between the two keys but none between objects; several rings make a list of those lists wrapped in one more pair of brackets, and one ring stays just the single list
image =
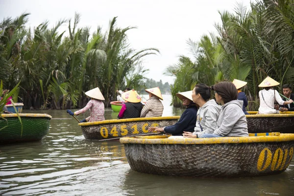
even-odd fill
[{"label": "woven side of the boat numbered 0451, below its yellow rim", "polygon": [[91,126],[81,126],[83,135],[89,140],[102,140],[124,136],[133,136],[148,133],[148,127],[169,126],[177,122],[172,120],[149,120],[149,121],[132,121],[122,123],[105,123]]}]

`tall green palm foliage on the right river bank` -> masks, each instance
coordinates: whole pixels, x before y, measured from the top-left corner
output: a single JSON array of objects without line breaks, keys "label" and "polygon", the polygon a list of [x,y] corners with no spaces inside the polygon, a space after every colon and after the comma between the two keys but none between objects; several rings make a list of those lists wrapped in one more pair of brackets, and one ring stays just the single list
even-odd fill
[{"label": "tall green palm foliage on the right river bank", "polygon": [[181,56],[167,69],[176,77],[171,87],[173,104],[177,92],[192,90],[196,83],[213,85],[234,78],[248,82],[244,91],[249,110],[258,108],[258,84],[267,75],[294,84],[294,0],[261,0],[247,11],[239,5],[233,13],[220,13],[218,35],[188,41],[194,60]]}]

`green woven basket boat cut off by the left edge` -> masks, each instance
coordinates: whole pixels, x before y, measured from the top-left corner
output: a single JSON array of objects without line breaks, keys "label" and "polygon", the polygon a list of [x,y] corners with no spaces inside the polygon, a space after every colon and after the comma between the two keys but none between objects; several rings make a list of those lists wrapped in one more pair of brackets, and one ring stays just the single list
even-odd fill
[{"label": "green woven basket boat cut off by the left edge", "polygon": [[1,114],[0,144],[42,140],[50,119],[47,114]]}]

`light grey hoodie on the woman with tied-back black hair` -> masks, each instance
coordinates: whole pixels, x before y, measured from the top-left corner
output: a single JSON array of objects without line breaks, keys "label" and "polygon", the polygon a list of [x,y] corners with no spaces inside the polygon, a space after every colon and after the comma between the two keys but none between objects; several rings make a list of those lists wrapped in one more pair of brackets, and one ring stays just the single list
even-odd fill
[{"label": "light grey hoodie on the woman with tied-back black hair", "polygon": [[[217,128],[220,112],[221,106],[214,99],[207,101],[202,107],[199,107],[193,134],[197,134],[200,137],[204,133],[213,133]],[[202,131],[199,123],[201,123]]]}]

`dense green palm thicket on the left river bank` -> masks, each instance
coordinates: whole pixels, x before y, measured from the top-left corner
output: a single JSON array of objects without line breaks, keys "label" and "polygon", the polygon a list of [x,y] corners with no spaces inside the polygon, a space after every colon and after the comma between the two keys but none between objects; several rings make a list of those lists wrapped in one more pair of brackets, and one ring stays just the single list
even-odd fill
[{"label": "dense green palm thicket on the left river bank", "polygon": [[[78,14],[74,21],[60,20],[52,28],[45,22],[33,31],[26,27],[27,16],[0,23],[0,79],[7,89],[21,81],[18,97],[25,108],[82,107],[84,92],[96,87],[109,106],[116,89],[144,85],[142,57],[159,52],[131,49],[126,32],[134,27],[117,27],[117,18],[107,32],[98,27],[91,35],[88,27],[77,28]],[[60,33],[64,24],[68,31]]]}]

